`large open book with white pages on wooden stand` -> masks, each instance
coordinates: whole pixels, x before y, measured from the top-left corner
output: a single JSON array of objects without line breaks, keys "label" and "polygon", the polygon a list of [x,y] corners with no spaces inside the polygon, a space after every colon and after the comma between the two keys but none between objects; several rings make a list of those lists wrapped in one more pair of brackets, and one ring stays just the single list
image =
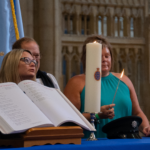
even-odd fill
[{"label": "large open book with white pages on wooden stand", "polygon": [[66,122],[95,131],[57,89],[30,80],[18,85],[11,82],[0,84],[0,131],[3,134],[24,132],[32,127],[60,126]]}]

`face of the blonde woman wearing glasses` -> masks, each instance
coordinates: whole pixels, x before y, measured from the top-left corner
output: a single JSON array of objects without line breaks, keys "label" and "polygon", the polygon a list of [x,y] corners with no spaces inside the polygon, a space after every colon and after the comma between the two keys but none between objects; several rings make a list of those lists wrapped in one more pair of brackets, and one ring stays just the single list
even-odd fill
[{"label": "face of the blonde woman wearing glasses", "polygon": [[30,64],[26,64],[23,60],[24,57],[27,57],[33,60],[33,57],[28,52],[22,53],[22,56],[21,56],[22,60],[20,60],[19,65],[18,65],[18,72],[19,72],[21,81],[31,80],[36,74],[35,64],[33,62],[31,62]]}]

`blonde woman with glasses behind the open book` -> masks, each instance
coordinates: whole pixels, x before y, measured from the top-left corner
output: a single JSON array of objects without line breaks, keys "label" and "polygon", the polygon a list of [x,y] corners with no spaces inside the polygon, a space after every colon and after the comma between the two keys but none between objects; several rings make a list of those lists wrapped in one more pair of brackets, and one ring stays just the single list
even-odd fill
[{"label": "blonde woman with glasses behind the open book", "polygon": [[0,70],[0,83],[36,79],[37,62],[28,50],[13,50],[6,54]]}]

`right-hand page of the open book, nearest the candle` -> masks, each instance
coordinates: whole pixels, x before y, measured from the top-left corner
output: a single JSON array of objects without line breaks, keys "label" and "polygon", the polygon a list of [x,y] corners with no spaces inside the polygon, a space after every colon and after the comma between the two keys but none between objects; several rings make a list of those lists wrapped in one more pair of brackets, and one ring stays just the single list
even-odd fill
[{"label": "right-hand page of the open book, nearest the candle", "polygon": [[87,122],[80,117],[82,114],[76,108],[72,109],[56,89],[48,88],[29,80],[19,83],[19,87],[26,92],[33,103],[37,105],[55,126],[65,122],[74,122],[85,129],[94,130],[85,118]]}]

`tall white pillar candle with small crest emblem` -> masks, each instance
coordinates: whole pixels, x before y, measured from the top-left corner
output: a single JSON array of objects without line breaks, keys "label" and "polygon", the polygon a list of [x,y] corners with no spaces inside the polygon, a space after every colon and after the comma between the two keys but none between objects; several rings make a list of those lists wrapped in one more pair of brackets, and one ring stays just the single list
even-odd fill
[{"label": "tall white pillar candle with small crest emblem", "polygon": [[86,44],[85,112],[100,112],[102,44]]}]

